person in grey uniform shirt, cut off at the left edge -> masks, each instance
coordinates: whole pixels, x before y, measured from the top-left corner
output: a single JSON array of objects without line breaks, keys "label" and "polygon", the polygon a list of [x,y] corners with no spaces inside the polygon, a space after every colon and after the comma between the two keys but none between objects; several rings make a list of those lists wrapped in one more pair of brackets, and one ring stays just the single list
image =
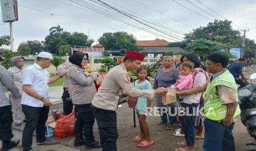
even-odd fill
[{"label": "person in grey uniform shirt, cut off at the left edge", "polygon": [[[0,61],[3,60],[0,53]],[[15,98],[20,98],[19,90],[15,86],[12,77],[10,77],[6,68],[0,65],[0,140],[3,141],[2,151],[9,150],[19,144],[19,140],[13,140],[12,134],[12,109],[10,102],[4,93],[4,87],[8,88],[8,91],[12,92]]]}]

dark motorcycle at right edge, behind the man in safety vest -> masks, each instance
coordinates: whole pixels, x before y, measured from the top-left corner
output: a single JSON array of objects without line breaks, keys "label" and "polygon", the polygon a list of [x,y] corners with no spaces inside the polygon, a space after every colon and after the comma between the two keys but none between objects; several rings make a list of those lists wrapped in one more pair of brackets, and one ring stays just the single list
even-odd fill
[{"label": "dark motorcycle at right edge, behind the man in safety vest", "polygon": [[[256,146],[256,85],[252,84],[252,79],[256,79],[256,73],[250,75],[250,85],[238,89],[239,107],[241,109],[241,121],[247,128],[250,137],[253,138],[252,143],[246,146]],[[247,151],[253,151],[250,149]]]}]

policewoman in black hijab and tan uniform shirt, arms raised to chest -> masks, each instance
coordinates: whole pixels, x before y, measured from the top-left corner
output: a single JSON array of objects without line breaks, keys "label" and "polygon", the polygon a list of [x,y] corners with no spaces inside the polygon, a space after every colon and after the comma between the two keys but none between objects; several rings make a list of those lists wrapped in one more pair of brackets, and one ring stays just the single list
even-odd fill
[{"label": "policewoman in black hijab and tan uniform shirt, arms raised to chest", "polygon": [[[70,83],[73,85],[74,93],[72,95],[72,102],[77,109],[77,121],[75,121],[75,146],[86,145],[86,149],[100,148],[101,144],[94,140],[93,125],[94,125],[94,113],[91,108],[91,101],[96,94],[96,86],[94,80],[97,79],[97,75],[94,73],[86,72],[88,54],[75,53],[69,57],[69,61],[76,65],[69,68],[68,75]],[[80,124],[83,124],[83,133],[80,130]]]}]

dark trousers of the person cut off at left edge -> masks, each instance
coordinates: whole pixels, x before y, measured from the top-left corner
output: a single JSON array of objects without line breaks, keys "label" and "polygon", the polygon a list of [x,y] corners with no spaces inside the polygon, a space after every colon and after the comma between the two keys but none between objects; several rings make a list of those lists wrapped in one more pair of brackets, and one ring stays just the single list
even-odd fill
[{"label": "dark trousers of the person cut off at left edge", "polygon": [[0,140],[9,141],[13,138],[13,113],[10,106],[0,107]]}]

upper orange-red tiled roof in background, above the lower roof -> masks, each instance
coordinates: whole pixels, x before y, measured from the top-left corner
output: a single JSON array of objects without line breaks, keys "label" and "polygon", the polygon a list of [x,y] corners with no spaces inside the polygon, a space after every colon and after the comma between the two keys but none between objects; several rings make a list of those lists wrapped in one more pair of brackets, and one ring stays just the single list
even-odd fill
[{"label": "upper orange-red tiled roof in background, above the lower roof", "polygon": [[155,39],[155,40],[137,40],[136,44],[140,47],[166,47],[169,42],[164,39]]}]

